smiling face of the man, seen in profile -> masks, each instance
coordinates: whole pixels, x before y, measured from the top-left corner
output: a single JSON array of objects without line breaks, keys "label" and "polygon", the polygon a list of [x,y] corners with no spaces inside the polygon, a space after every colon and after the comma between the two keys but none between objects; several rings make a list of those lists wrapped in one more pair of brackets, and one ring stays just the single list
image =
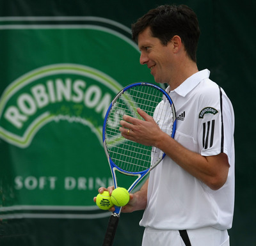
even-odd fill
[{"label": "smiling face of the man, seen in profile", "polygon": [[138,35],[138,47],[141,51],[140,63],[150,68],[150,73],[157,83],[170,83],[172,75],[172,42],[164,46],[158,38],[151,35],[147,27]]}]

